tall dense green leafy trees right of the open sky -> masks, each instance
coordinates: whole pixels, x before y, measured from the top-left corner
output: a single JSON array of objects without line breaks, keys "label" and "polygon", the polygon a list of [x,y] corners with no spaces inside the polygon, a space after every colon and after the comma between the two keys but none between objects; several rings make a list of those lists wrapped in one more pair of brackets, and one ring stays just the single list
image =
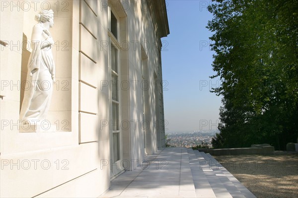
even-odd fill
[{"label": "tall dense green leafy trees right of the open sky", "polygon": [[223,96],[213,147],[285,149],[298,136],[298,1],[213,1],[212,92]]}]

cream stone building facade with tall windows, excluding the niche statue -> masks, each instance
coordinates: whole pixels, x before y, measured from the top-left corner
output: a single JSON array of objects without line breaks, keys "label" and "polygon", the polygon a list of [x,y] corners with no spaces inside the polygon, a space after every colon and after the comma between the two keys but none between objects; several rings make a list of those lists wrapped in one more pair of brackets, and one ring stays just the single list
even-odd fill
[{"label": "cream stone building facade with tall windows, excluding the niche statue", "polygon": [[[98,197],[165,147],[164,0],[0,0],[0,9],[0,197]],[[19,113],[44,9],[54,11],[56,81],[36,132]]]}]

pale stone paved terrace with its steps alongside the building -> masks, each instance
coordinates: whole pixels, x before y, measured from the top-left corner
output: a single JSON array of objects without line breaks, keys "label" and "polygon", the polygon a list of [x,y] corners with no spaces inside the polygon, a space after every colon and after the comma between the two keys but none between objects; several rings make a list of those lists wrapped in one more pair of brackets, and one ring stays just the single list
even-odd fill
[{"label": "pale stone paved terrace with its steps alongside the building", "polygon": [[111,182],[101,198],[255,198],[210,154],[164,148]]}]

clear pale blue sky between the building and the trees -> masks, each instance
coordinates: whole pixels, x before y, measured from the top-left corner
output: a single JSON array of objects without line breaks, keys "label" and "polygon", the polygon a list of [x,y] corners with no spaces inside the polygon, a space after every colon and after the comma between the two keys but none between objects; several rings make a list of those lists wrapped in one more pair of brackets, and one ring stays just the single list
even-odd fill
[{"label": "clear pale blue sky between the building and the trees", "polygon": [[222,97],[206,26],[211,0],[166,0],[170,34],[161,39],[165,132],[217,129]]}]

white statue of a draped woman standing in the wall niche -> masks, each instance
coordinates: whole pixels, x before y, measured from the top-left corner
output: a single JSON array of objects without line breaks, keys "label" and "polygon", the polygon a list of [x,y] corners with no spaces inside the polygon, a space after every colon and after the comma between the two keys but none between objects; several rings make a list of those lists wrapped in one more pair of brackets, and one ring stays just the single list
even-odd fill
[{"label": "white statue of a draped woman standing in the wall niche", "polygon": [[49,110],[53,82],[55,81],[55,64],[52,54],[54,40],[49,29],[54,25],[53,10],[43,10],[35,16],[31,37],[32,52],[28,61],[27,82],[30,88],[25,90],[20,111],[20,121],[40,124],[45,120]]}]

